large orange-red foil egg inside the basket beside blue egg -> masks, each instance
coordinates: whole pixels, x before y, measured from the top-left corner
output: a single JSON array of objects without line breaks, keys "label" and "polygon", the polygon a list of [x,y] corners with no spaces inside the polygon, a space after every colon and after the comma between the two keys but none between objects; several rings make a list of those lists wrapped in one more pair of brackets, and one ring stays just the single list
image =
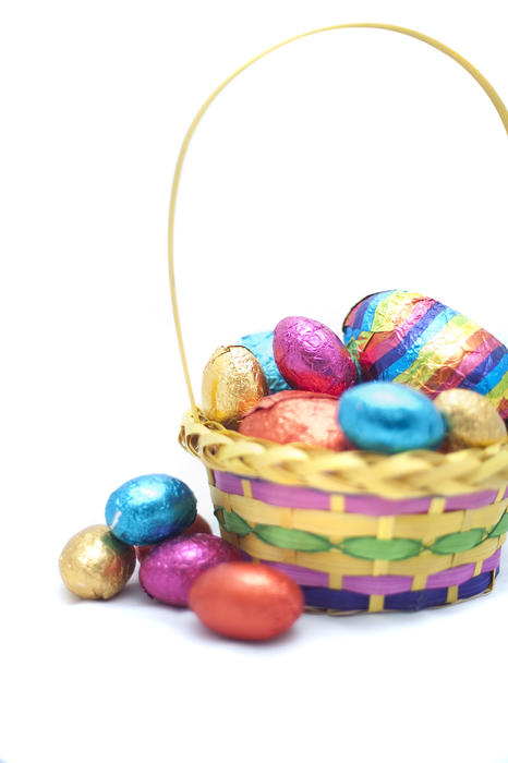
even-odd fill
[{"label": "large orange-red foil egg inside the basket beside blue egg", "polygon": [[290,390],[270,395],[242,419],[239,432],[273,443],[305,443],[316,448],[349,450],[337,422],[338,400],[330,395]]}]

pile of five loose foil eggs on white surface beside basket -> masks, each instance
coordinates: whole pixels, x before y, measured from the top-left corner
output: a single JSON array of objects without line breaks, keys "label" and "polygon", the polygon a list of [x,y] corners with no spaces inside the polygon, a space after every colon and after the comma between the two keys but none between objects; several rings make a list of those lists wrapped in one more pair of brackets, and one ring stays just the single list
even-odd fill
[{"label": "pile of five loose foil eggs on white surface beside basket", "polygon": [[82,530],[63,548],[60,574],[81,598],[111,598],[125,588],[136,558],[150,598],[190,607],[230,639],[273,639],[303,611],[300,586],[213,535],[192,491],[167,474],[145,474],[114,491],[106,524]]}]

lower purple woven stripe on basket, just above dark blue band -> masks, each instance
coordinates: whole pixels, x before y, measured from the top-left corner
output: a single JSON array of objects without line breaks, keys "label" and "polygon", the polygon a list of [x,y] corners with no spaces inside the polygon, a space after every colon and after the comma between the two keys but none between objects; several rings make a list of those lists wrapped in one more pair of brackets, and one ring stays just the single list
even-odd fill
[{"label": "lower purple woven stripe on basket, just above dark blue band", "polygon": [[[499,565],[501,549],[498,548],[488,559],[482,565],[482,572],[492,572]],[[247,555],[246,555],[247,556]],[[282,561],[263,561],[269,567],[275,567],[281,572],[286,572],[299,585],[311,585],[313,588],[328,588],[329,578],[327,572],[318,572],[311,570],[307,567],[299,567],[297,565],[288,565]],[[426,581],[425,590],[445,589],[449,585],[461,585],[474,577],[474,562],[470,565],[461,565],[460,567],[451,567],[442,572],[430,574]],[[379,574],[379,576],[349,576],[342,578],[342,590],[360,593],[366,596],[376,594],[379,596],[388,596],[395,593],[407,593],[411,591],[413,578],[402,574]]]}]

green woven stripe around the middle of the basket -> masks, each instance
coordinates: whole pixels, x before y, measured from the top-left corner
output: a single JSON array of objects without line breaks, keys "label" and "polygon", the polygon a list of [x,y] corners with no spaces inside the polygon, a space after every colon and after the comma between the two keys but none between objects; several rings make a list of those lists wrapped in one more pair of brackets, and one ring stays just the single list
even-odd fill
[{"label": "green woven stripe around the middle of the basket", "polygon": [[425,546],[414,538],[395,537],[390,540],[375,536],[347,537],[340,543],[331,543],[325,535],[317,535],[304,530],[279,528],[276,524],[255,524],[251,526],[235,511],[226,511],[222,506],[215,507],[215,516],[220,526],[241,537],[252,533],[259,541],[278,548],[291,548],[297,552],[318,553],[337,549],[359,559],[383,559],[398,561],[419,556],[423,552],[437,555],[458,554],[479,546],[489,537],[497,537],[508,530],[508,511],[499,522],[487,531],[485,528],[450,533],[438,537],[432,545]]}]

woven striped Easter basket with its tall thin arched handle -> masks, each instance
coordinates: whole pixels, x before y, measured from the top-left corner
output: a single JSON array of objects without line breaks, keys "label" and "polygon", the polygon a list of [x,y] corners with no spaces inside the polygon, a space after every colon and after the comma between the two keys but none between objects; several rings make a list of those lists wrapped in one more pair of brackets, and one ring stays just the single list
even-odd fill
[{"label": "woven striped Easter basket with its tall thin arched handle", "polygon": [[483,87],[508,131],[508,114],[485,77],[423,34],[384,24],[315,29],[264,51],[229,76],[192,122],[178,158],[169,217],[173,315],[191,410],[181,445],[207,470],[222,537],[254,561],[287,572],[307,609],[328,614],[418,610],[489,591],[508,530],[508,445],[455,452],[336,452],[246,437],[207,420],[196,405],[176,295],[177,194],[189,143],[221,90],[273,50],[347,27],[420,39],[462,65]]}]

